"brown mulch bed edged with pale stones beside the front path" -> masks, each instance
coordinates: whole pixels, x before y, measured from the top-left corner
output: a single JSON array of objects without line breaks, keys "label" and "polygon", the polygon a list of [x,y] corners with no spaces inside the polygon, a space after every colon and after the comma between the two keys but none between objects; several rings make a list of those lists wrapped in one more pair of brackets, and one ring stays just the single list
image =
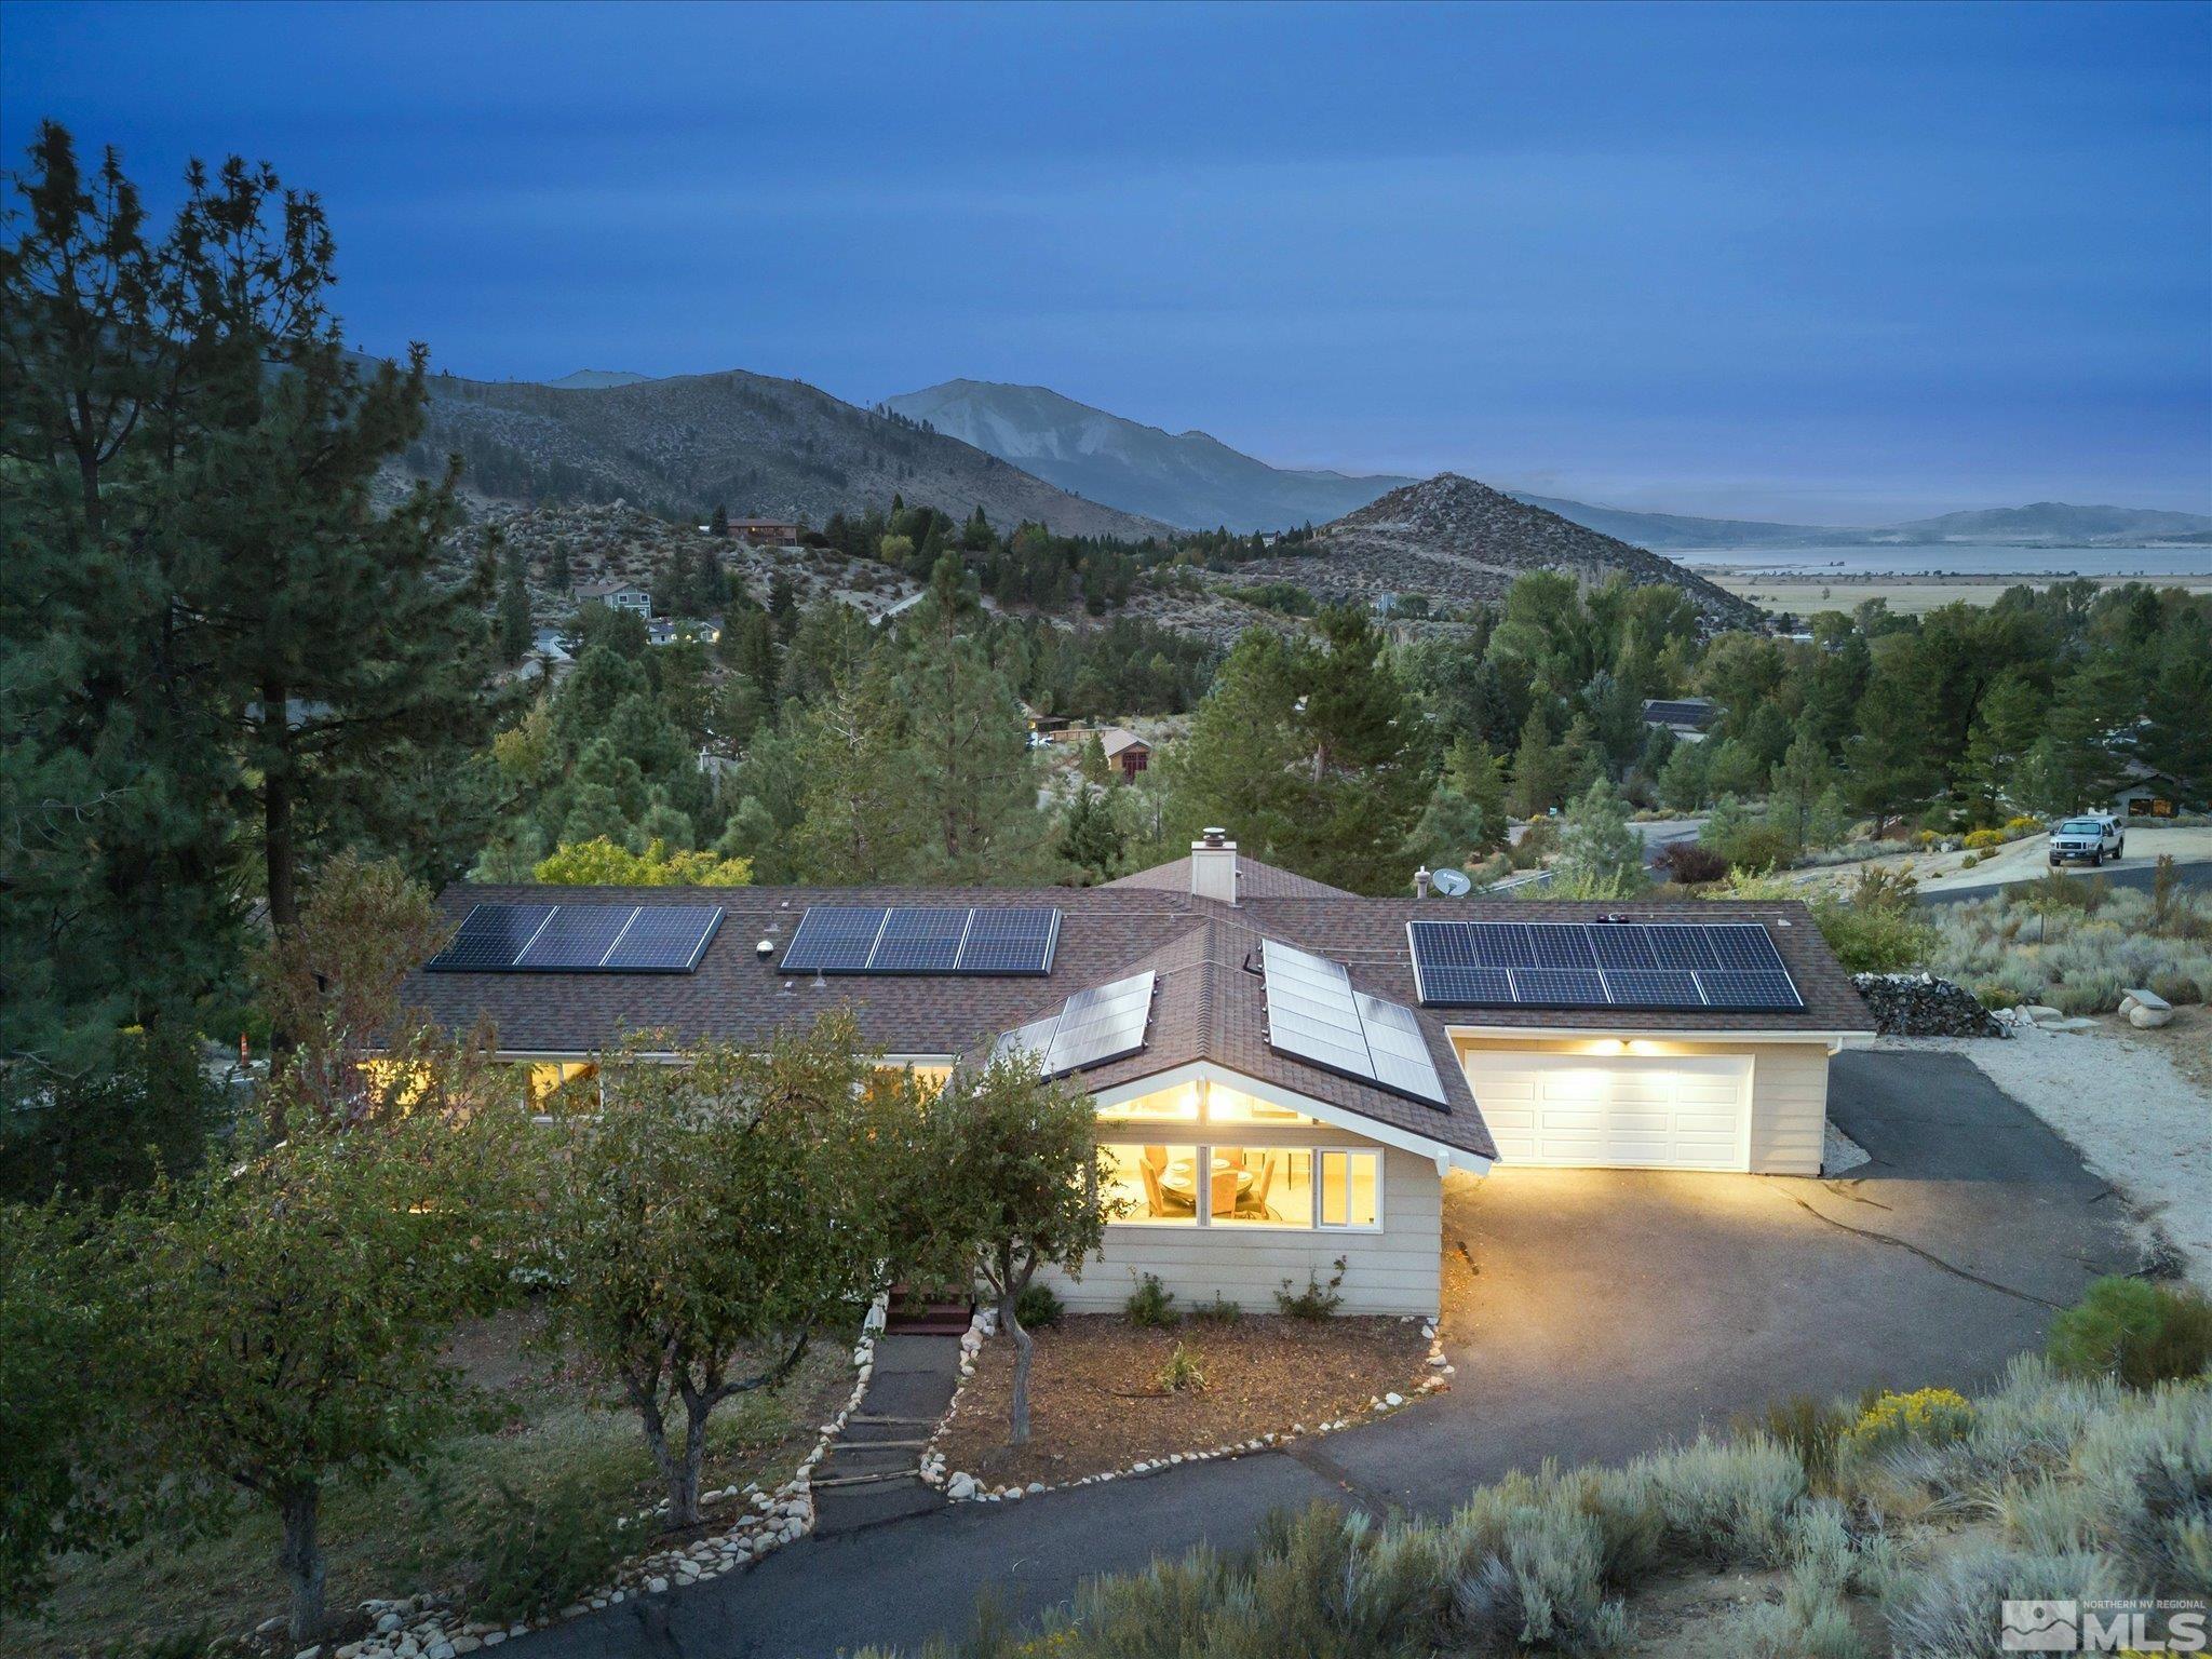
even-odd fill
[{"label": "brown mulch bed edged with pale stones beside the front path", "polygon": [[[1177,1343],[1203,1371],[1203,1389],[1161,1387]],[[951,1469],[989,1484],[1051,1486],[1294,1425],[1367,1416],[1383,1394],[1411,1398],[1427,1358],[1420,1321],[1270,1316],[1137,1329],[1115,1314],[1084,1314],[1037,1332],[1029,1447],[1006,1447],[1013,1343],[991,1338],[938,1449]]]}]

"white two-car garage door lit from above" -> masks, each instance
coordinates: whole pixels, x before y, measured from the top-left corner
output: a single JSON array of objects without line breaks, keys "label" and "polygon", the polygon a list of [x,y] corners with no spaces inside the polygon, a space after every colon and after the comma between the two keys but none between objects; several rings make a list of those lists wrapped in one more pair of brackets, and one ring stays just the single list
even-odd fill
[{"label": "white two-car garage door lit from above", "polygon": [[1467,1055],[1467,1082],[1506,1166],[1750,1168],[1750,1055],[1478,1048]]}]

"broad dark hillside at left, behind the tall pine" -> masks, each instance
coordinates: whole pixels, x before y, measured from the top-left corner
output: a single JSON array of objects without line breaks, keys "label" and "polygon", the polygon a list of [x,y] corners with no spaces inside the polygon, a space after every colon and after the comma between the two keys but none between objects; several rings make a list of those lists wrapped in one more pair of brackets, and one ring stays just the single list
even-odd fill
[{"label": "broad dark hillside at left, behind the tall pine", "polygon": [[1141,540],[1166,529],[801,380],[741,369],[628,385],[568,380],[434,376],[429,429],[409,449],[409,469],[427,476],[460,453],[467,489],[509,502],[628,500],[679,515],[721,502],[734,518],[821,524],[905,493],[956,518],[982,507],[993,524],[1040,520],[1073,535]]}]

